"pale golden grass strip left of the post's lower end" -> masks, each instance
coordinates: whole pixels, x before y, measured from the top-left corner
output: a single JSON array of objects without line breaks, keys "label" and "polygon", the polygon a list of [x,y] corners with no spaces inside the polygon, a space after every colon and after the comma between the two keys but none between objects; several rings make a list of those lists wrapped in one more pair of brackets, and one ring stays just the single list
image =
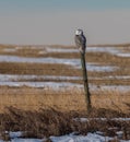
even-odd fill
[{"label": "pale golden grass strip left of the post's lower end", "polygon": [[[4,88],[0,92],[0,109],[5,106],[14,106],[22,109],[38,110],[39,108],[54,107],[60,110],[84,110],[83,95],[71,91],[51,91],[44,88]],[[80,98],[80,99],[79,99]]]}]

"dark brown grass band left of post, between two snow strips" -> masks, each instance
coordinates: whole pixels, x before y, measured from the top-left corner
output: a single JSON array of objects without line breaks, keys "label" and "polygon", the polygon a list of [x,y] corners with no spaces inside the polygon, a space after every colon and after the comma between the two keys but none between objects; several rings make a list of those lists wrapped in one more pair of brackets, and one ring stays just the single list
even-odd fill
[{"label": "dark brown grass band left of post, between two snow strips", "polygon": [[[60,71],[59,71],[60,70]],[[79,70],[57,63],[0,62],[2,74],[78,75]]]}]

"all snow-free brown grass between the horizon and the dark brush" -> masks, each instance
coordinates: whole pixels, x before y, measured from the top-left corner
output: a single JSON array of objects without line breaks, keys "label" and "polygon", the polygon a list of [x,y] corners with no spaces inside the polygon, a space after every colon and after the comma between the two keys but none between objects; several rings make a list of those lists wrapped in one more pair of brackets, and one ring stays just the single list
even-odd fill
[{"label": "all snow-free brown grass between the horizon and the dark brush", "polygon": [[[106,45],[107,46],[107,45]],[[67,46],[51,46],[51,48],[74,48]],[[129,45],[121,47],[126,51],[129,51]],[[93,47],[92,47],[93,48]],[[105,48],[105,47],[104,47]],[[120,48],[117,46],[117,48]],[[15,49],[15,51],[5,51],[4,49]],[[80,58],[78,52],[46,52],[39,55],[39,51],[45,51],[46,48],[31,48],[27,46],[25,48],[17,48],[13,45],[1,45],[0,55],[12,55],[12,56],[22,56],[22,57],[57,57],[57,58]],[[88,71],[88,83],[101,85],[130,85],[130,79],[104,79],[108,75],[130,75],[130,58],[117,57],[107,52],[86,52],[86,61],[96,62],[101,66],[117,66],[118,70],[110,72],[96,72]],[[36,75],[69,75],[69,76],[82,76],[81,69],[74,69],[71,66],[57,64],[57,63],[27,63],[27,62],[0,62],[0,73],[1,74],[36,74]],[[91,79],[93,76],[93,79]],[[94,78],[101,78],[102,80],[94,80]],[[25,81],[20,80],[20,81]],[[26,80],[29,81],[29,80]],[[32,81],[55,81],[55,80],[32,80]],[[57,80],[60,82],[60,80]],[[68,82],[64,80],[64,82]],[[82,80],[69,80],[72,83],[82,84]],[[125,109],[125,104],[130,102],[130,93],[120,93],[117,90],[115,92],[102,91],[96,93],[92,92],[92,104],[94,107],[109,107],[116,108],[118,106],[120,109]],[[3,111],[3,108],[7,106],[16,106],[17,108],[25,109],[38,109],[40,107],[49,106],[55,107],[61,110],[84,110],[84,93],[76,88],[72,91],[52,91],[51,88],[34,88],[34,87],[9,87],[0,86],[0,111]],[[23,99],[22,99],[23,98]],[[102,103],[101,103],[102,102]],[[115,107],[113,107],[115,104]],[[117,108],[116,108],[117,109]]]}]

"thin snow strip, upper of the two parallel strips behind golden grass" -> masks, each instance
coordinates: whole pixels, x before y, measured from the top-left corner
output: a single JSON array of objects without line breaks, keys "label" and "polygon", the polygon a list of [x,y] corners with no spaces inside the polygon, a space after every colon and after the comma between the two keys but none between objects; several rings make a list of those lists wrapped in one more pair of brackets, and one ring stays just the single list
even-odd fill
[{"label": "thin snow strip, upper of the two parallel strips behind golden grass", "polygon": [[[104,78],[88,76],[90,80],[129,80],[130,75],[108,75]],[[9,81],[33,81],[33,80],[56,80],[56,81],[70,81],[70,80],[82,80],[82,76],[63,76],[63,75],[35,75],[35,74],[0,74],[0,82]]]}]

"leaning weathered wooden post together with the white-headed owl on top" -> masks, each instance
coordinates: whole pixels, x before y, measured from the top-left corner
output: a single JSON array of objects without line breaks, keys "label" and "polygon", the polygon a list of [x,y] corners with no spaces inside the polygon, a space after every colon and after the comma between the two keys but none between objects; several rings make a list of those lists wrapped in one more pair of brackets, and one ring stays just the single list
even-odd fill
[{"label": "leaning weathered wooden post together with the white-headed owl on top", "polygon": [[83,35],[82,29],[75,31],[75,45],[80,50],[81,55],[81,64],[82,64],[82,71],[83,71],[83,81],[84,81],[84,92],[85,92],[85,102],[86,102],[86,109],[87,113],[90,113],[92,106],[91,106],[91,93],[88,90],[88,80],[87,80],[87,72],[86,72],[86,63],[85,63],[85,49],[86,49],[86,38]]}]

